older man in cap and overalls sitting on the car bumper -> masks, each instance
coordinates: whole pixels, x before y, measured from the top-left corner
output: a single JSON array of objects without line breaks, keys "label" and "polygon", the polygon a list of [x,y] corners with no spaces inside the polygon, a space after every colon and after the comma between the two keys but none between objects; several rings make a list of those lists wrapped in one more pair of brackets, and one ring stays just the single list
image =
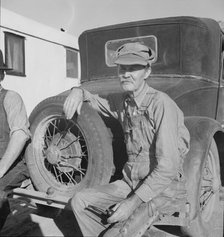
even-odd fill
[{"label": "older man in cap and overalls sitting on the car bumper", "polygon": [[[139,42],[122,45],[115,64],[124,95],[105,100],[73,88],[64,103],[68,119],[80,113],[83,101],[119,119],[128,154],[122,180],[73,197],[72,209],[83,236],[136,236],[150,218],[153,222],[161,213],[174,213],[171,201],[177,206],[186,201],[182,164],[189,150],[189,132],[175,102],[146,83],[153,58],[154,52]],[[111,206],[113,214],[105,223],[97,212]]]}]

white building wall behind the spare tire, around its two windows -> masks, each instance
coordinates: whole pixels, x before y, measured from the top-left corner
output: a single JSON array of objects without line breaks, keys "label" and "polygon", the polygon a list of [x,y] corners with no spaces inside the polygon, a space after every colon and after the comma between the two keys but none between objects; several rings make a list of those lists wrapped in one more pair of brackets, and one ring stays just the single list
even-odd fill
[{"label": "white building wall behind the spare tire, around its two windows", "polygon": [[[9,22],[9,19],[10,22]],[[79,78],[66,77],[66,50],[77,49],[77,38],[2,9],[0,48],[4,53],[4,31],[26,38],[26,77],[6,75],[2,85],[17,91],[28,115],[43,99],[79,84]]]}]

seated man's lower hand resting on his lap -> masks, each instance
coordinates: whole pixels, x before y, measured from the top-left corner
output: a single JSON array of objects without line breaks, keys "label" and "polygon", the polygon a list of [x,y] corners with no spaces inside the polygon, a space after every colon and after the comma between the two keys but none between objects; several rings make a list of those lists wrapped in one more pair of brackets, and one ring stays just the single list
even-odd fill
[{"label": "seated man's lower hand resting on his lap", "polygon": [[130,198],[118,203],[112,210],[113,215],[107,219],[108,223],[120,222],[127,220],[128,217],[134,212],[134,210],[139,207],[142,200],[134,194]]}]

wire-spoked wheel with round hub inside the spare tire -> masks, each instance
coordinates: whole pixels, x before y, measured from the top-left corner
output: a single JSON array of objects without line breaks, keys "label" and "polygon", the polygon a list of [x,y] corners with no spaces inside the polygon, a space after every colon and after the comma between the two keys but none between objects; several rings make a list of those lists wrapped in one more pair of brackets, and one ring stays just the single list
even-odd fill
[{"label": "wire-spoked wheel with round hub inside the spare tire", "polygon": [[48,117],[40,123],[33,141],[40,169],[46,169],[49,179],[72,187],[84,177],[88,166],[88,151],[81,128],[63,117]]}]

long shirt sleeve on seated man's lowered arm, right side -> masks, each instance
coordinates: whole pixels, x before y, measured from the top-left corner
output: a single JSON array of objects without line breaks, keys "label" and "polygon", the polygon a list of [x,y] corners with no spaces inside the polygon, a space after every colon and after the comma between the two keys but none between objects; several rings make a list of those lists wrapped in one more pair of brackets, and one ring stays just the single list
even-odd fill
[{"label": "long shirt sleeve on seated man's lowered arm, right side", "polygon": [[[177,176],[182,163],[178,147],[179,124],[184,126],[182,111],[165,95],[159,96],[153,107],[156,137],[154,154],[157,166],[135,191],[144,202],[150,201],[167,188]],[[186,128],[182,130],[182,136],[189,141]]]}]

